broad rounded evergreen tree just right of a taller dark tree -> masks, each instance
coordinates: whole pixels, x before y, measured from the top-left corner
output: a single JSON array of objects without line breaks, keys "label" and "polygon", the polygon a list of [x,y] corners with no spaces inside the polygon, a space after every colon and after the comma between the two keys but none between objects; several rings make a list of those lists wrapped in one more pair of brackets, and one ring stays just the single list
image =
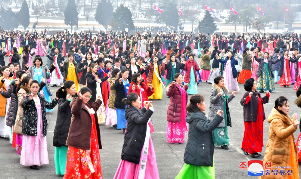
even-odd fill
[{"label": "broad rounded evergreen tree just right of a taller dark tree", "polygon": [[[120,5],[113,14],[114,24],[116,24],[116,29],[114,30],[122,30],[124,31],[125,28],[129,30],[134,30],[134,21],[132,19],[132,12],[129,8]],[[113,27],[113,26],[112,26]]]}]

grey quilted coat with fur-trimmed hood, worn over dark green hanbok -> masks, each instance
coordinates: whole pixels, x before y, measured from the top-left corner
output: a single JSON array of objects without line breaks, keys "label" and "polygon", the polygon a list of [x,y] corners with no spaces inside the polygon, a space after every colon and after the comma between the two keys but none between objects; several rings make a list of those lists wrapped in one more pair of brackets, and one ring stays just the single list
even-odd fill
[{"label": "grey quilted coat with fur-trimmed hood, worn over dark green hanbok", "polygon": [[[222,90],[224,91],[224,94],[228,93],[228,89],[224,86],[222,88]],[[209,105],[209,119],[212,120],[213,116],[216,114],[216,112],[218,110],[222,110],[224,112],[224,100],[222,98],[222,96],[219,97],[218,93],[222,92],[221,89],[218,87],[218,85],[216,85],[215,83],[212,84],[212,90],[211,90],[211,95],[210,95],[210,105]],[[231,102],[231,100],[233,100],[235,96],[233,96],[233,94],[231,94],[229,96],[228,99],[228,103]],[[227,112],[227,125],[231,127],[231,116],[230,116],[230,112]],[[224,113],[222,113],[222,118],[225,119]],[[225,120],[222,120],[222,122],[219,124],[218,127],[225,127]]]}]

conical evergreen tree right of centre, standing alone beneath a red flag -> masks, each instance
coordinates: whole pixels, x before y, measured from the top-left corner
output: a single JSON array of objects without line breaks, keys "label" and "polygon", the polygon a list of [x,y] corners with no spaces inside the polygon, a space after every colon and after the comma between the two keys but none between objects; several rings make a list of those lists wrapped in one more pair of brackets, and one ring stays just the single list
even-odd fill
[{"label": "conical evergreen tree right of centre, standing alone beneath a red flag", "polygon": [[213,17],[211,17],[211,14],[209,11],[206,11],[206,14],[203,17],[202,21],[199,22],[198,29],[199,29],[199,32],[209,33],[209,34],[213,34],[213,32],[216,30],[216,25],[214,23],[214,19],[213,19]]}]

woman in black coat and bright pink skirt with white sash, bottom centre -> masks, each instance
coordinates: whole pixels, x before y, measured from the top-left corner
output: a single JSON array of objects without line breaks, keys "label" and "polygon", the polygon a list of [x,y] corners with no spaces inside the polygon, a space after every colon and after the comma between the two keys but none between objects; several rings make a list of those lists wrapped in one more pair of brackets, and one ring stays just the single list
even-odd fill
[{"label": "woman in black coat and bright pink skirt with white sash, bottom centre", "polygon": [[128,123],[121,161],[114,179],[160,178],[151,139],[151,133],[154,132],[151,123],[151,115],[154,113],[152,101],[144,101],[144,107],[140,110],[140,97],[137,93],[130,93],[122,102],[124,105],[129,105],[125,112]]}]

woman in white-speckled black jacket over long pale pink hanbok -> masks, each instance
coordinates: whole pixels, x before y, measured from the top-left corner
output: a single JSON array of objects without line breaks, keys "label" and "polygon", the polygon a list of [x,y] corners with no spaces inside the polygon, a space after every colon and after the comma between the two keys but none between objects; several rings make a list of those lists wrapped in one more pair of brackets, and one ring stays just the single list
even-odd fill
[{"label": "woman in white-speckled black jacket over long pale pink hanbok", "polygon": [[40,165],[48,164],[47,151],[47,120],[46,108],[53,109],[58,102],[56,97],[48,102],[43,96],[38,94],[40,83],[36,80],[30,82],[30,94],[24,93],[22,102],[22,151],[20,163],[39,170]]}]

